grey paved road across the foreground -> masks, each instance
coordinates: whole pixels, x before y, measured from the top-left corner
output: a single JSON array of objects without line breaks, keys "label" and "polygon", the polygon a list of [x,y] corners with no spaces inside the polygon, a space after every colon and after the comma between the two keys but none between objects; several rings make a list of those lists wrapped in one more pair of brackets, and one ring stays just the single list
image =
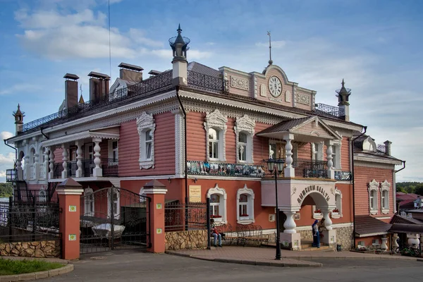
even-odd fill
[{"label": "grey paved road across the foreground", "polygon": [[[97,257],[97,259],[91,258]],[[103,259],[102,259],[103,257]],[[313,260],[316,262],[316,260]],[[321,259],[319,268],[250,266],[140,252],[94,254],[69,274],[38,281],[422,281],[423,262]],[[272,279],[272,280],[271,280]],[[287,279],[287,280],[286,280]]]}]

